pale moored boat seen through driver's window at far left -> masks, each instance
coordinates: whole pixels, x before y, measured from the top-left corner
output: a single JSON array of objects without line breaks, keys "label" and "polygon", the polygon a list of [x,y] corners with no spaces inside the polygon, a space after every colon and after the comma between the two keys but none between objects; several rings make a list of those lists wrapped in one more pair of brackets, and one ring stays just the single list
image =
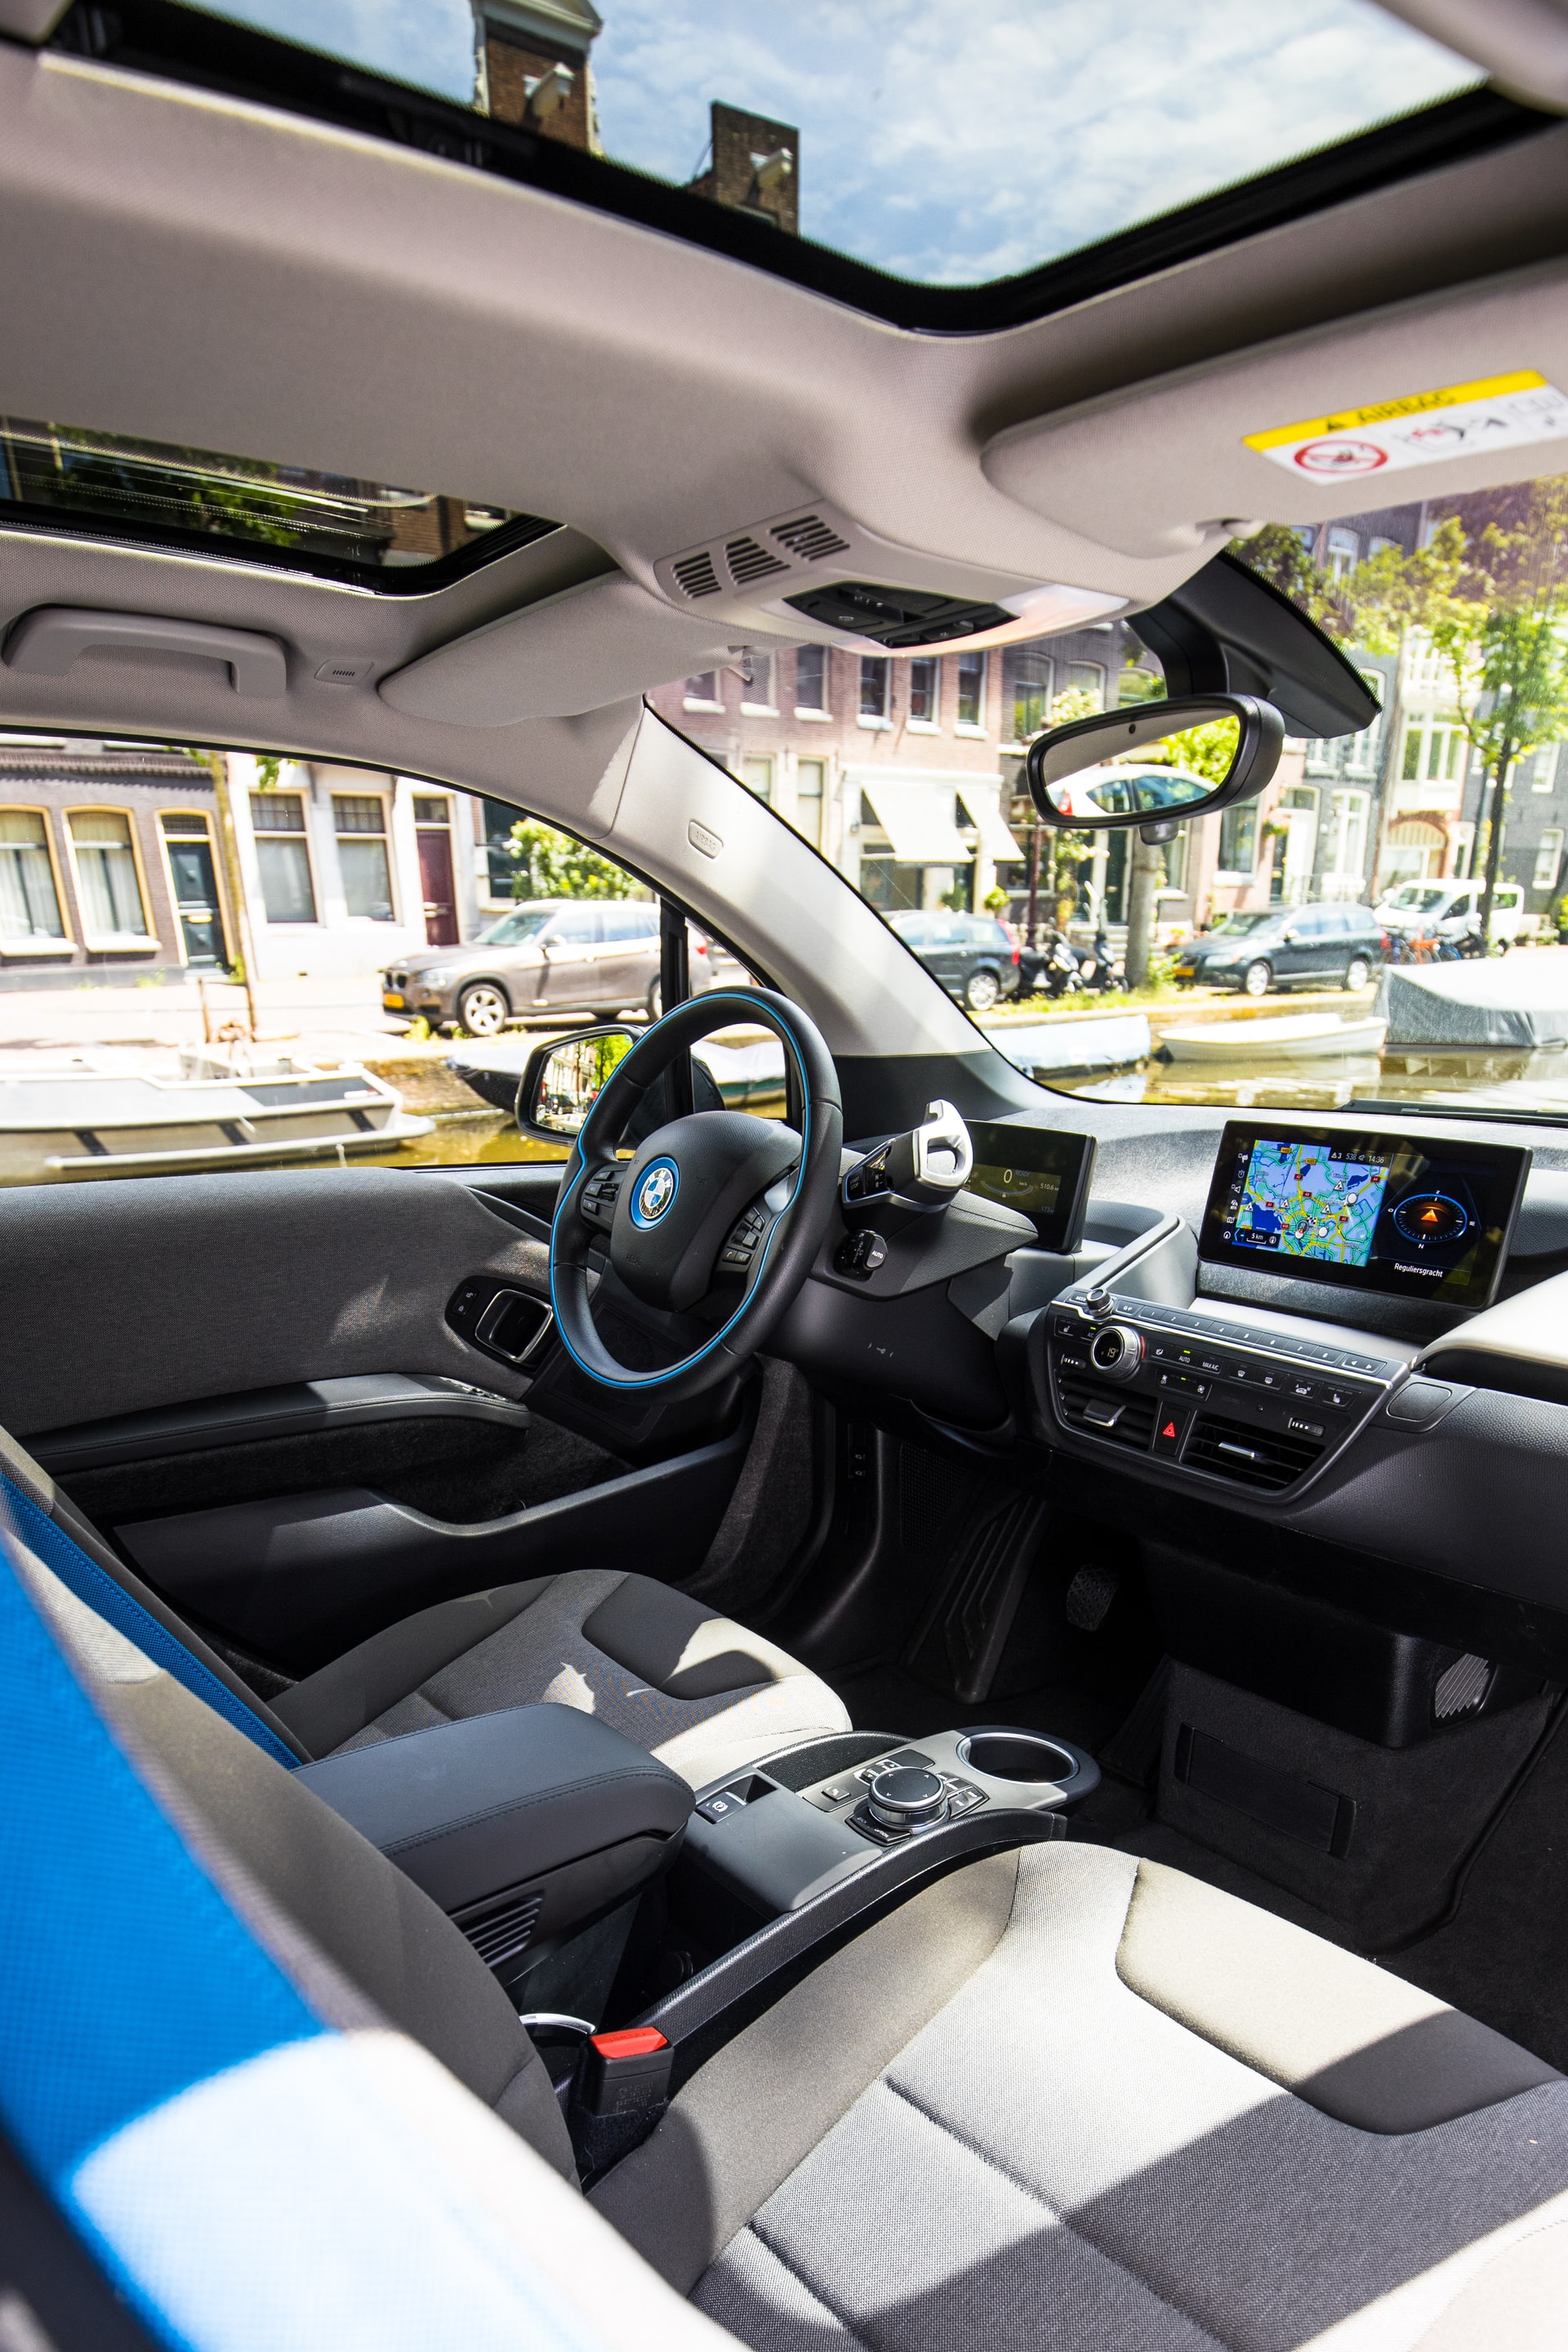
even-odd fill
[{"label": "pale moored boat seen through driver's window at far left", "polygon": [[[31,1061],[31,1056],[28,1056]],[[169,1070],[113,1054],[0,1070],[0,1183],[287,1167],[383,1152],[428,1136],[360,1063],[292,1063],[212,1049]]]}]

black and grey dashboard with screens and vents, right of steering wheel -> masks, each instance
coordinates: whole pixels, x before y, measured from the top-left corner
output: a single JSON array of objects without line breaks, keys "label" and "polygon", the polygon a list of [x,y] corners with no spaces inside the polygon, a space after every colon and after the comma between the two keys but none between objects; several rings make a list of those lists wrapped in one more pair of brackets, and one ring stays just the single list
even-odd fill
[{"label": "black and grey dashboard with screens and vents, right of steering wheel", "polygon": [[1098,1470],[1095,1508],[1138,1529],[1187,1524],[1159,1503],[1185,1496],[1568,1613],[1552,1131],[1072,1110],[969,1122],[940,1214],[898,1221],[846,1178],[851,1240],[875,1228],[886,1263],[849,1279],[827,1254],[778,1352],[1009,1477]]}]

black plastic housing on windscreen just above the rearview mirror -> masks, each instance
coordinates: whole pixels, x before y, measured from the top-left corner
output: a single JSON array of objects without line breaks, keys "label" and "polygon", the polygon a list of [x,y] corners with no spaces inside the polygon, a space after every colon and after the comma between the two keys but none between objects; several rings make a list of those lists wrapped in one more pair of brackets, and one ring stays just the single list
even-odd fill
[{"label": "black plastic housing on windscreen just above the rearview mirror", "polygon": [[1159,654],[1166,694],[1255,694],[1286,734],[1359,734],[1382,708],[1333,637],[1234,555],[1133,614],[1133,628]]}]

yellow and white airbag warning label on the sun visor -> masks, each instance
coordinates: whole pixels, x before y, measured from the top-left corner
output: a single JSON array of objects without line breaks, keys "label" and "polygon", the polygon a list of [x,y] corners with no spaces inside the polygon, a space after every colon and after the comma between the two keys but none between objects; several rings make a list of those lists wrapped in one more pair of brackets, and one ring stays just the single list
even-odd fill
[{"label": "yellow and white airbag warning label on the sun visor", "polygon": [[1246,447],[1295,475],[1335,480],[1563,437],[1568,395],[1526,367],[1516,376],[1450,383],[1439,393],[1408,393],[1366,409],[1276,426],[1274,433],[1248,433]]}]

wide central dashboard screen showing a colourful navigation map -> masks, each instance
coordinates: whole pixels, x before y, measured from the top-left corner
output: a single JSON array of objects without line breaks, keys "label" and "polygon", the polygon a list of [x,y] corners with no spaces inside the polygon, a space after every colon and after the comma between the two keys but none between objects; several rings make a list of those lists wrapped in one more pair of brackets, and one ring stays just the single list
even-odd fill
[{"label": "wide central dashboard screen showing a colourful navigation map", "polygon": [[1272,1129],[1220,1136],[1201,1256],[1394,1298],[1483,1308],[1530,1152],[1512,1143]]}]

